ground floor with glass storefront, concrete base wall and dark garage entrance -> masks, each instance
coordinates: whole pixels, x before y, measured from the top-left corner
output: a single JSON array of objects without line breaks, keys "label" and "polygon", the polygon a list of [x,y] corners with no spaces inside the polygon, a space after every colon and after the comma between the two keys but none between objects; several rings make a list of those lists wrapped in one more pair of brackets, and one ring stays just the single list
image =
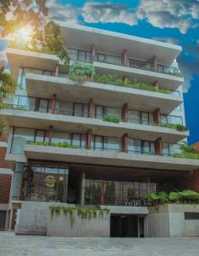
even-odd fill
[{"label": "ground floor with glass storefront, concrete base wall and dark garage entrance", "polygon": [[[167,237],[171,234],[162,233],[162,229],[164,225],[169,229],[170,220],[165,221],[169,211],[180,212],[183,222],[184,210],[151,211],[148,195],[178,189],[179,180],[187,175],[187,172],[49,161],[17,163],[9,229],[18,234],[44,236]],[[54,217],[52,206],[60,207]],[[107,210],[103,218],[99,208]],[[90,211],[87,218],[81,215],[82,211],[87,214]],[[199,209],[186,211],[199,212]],[[159,218],[162,228],[156,230],[153,226]],[[192,234],[189,228],[185,232]]]}]

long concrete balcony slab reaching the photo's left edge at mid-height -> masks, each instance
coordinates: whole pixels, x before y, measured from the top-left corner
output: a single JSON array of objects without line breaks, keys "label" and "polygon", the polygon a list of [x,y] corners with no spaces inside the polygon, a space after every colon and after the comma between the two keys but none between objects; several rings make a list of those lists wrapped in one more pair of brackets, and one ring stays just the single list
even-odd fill
[{"label": "long concrete balcony slab reaching the photo's left edge at mid-height", "polygon": [[57,131],[66,129],[76,132],[87,132],[91,129],[94,134],[99,135],[122,137],[124,133],[128,133],[129,137],[145,140],[156,140],[162,137],[163,141],[171,143],[178,143],[189,135],[189,131],[177,131],[149,122],[141,123],[140,119],[128,119],[128,123],[112,123],[104,121],[102,116],[95,114],[88,118],[88,113],[78,112],[77,116],[72,116],[74,113],[61,110],[59,114],[59,109],[58,114],[47,113],[48,108],[45,107],[36,109],[35,106],[15,106],[14,108],[16,109],[0,110],[1,118],[10,126],[48,130],[49,125],[53,125]]}]

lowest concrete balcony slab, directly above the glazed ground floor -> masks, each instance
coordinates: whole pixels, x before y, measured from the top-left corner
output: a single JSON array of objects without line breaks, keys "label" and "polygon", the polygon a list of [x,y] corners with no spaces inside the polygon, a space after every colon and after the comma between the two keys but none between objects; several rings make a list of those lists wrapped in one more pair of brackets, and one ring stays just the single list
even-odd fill
[{"label": "lowest concrete balcony slab, directly above the glazed ground floor", "polygon": [[[54,160],[81,164],[127,166],[150,168],[156,170],[193,171],[198,168],[199,160],[178,159],[151,154],[134,154],[134,152],[118,152],[114,150],[92,150],[82,148],[59,148],[51,146],[25,146],[27,159]],[[160,171],[161,172],[161,171]]]}]

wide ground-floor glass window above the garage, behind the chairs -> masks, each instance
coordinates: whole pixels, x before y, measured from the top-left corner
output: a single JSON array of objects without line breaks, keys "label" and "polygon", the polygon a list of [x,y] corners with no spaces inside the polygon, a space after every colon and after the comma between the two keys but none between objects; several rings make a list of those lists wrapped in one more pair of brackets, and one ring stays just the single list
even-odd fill
[{"label": "wide ground-floor glass window above the garage, behind the chairs", "polygon": [[85,204],[143,205],[149,193],[156,192],[156,183],[143,181],[123,182],[86,179]]}]

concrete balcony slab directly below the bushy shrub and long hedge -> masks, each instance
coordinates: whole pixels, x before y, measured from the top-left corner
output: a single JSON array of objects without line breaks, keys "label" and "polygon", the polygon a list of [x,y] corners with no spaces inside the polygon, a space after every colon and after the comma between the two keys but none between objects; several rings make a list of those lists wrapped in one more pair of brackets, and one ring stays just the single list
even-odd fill
[{"label": "concrete balcony slab directly below the bushy shrub and long hedge", "polygon": [[182,102],[181,96],[176,96],[177,92],[165,94],[111,84],[77,83],[67,78],[33,73],[26,73],[26,88],[28,96],[51,98],[55,91],[60,100],[88,102],[93,98],[97,105],[121,108],[123,103],[128,103],[128,108],[150,112],[160,108],[161,113],[165,114],[172,112]]}]

